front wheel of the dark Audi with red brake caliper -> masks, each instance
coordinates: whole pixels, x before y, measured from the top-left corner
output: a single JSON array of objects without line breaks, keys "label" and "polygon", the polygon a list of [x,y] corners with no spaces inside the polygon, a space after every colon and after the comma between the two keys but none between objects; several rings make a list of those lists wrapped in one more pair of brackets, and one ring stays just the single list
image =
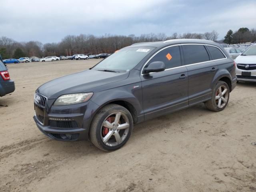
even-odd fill
[{"label": "front wheel of the dark Audi with red brake caliper", "polygon": [[109,104],[95,115],[90,127],[90,140],[101,150],[114,151],[124,146],[132,130],[130,112],[123,106]]}]

